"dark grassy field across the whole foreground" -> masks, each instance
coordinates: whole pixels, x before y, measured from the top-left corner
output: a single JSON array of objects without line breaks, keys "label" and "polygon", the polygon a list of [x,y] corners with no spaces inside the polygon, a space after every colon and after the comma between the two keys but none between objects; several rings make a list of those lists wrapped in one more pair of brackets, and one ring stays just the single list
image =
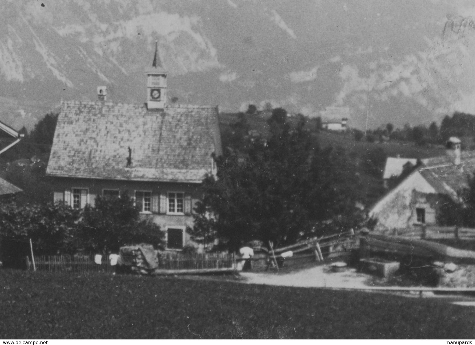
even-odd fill
[{"label": "dark grassy field across the whole foreground", "polygon": [[440,299],[138,276],[0,270],[0,338],[473,338]]}]

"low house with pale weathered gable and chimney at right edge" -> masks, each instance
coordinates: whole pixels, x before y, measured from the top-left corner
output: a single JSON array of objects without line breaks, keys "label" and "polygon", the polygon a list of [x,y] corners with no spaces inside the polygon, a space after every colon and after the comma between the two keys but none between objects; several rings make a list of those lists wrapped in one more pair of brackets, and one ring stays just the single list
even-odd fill
[{"label": "low house with pale weathered gable and chimney at right edge", "polygon": [[377,220],[379,230],[438,224],[444,204],[463,203],[460,192],[468,188],[474,172],[475,154],[461,152],[460,140],[450,138],[446,156],[420,161],[373,205],[369,216]]}]

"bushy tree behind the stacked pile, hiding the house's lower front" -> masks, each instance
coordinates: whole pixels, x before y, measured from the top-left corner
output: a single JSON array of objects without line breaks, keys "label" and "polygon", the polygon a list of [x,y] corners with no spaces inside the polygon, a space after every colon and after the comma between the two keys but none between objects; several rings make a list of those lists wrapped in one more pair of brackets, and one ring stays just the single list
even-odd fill
[{"label": "bushy tree behind the stacked pile, hiding the house's lower front", "polygon": [[126,244],[162,245],[163,233],[151,220],[143,220],[133,199],[97,196],[95,207],[86,205],[80,224],[79,239],[87,251],[118,252]]}]

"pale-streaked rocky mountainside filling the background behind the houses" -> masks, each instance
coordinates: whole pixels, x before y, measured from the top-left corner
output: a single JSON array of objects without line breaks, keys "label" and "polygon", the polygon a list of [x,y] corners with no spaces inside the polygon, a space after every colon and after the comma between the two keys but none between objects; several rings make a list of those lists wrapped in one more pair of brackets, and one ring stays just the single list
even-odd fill
[{"label": "pale-streaked rocky mountainside filling the background behind the houses", "polygon": [[428,124],[475,113],[474,14],[466,0],[5,0],[0,120],[31,129],[98,85],[144,102],[158,40],[179,103]]}]

